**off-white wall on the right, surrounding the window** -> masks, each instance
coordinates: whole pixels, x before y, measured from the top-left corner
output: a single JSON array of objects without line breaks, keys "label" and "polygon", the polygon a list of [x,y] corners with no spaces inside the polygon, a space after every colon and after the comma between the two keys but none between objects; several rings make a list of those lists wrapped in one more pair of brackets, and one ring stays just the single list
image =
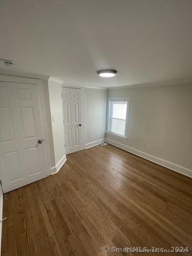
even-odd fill
[{"label": "off-white wall on the right, surrounding the window", "polygon": [[[147,153],[161,158],[151,159],[192,175],[191,84],[110,89],[108,97],[131,98],[128,138],[107,134],[108,141],[121,143],[126,146],[125,149],[133,149],[136,154]],[[143,156],[150,158],[145,154]],[[162,159],[171,162],[170,165],[161,162]]]}]

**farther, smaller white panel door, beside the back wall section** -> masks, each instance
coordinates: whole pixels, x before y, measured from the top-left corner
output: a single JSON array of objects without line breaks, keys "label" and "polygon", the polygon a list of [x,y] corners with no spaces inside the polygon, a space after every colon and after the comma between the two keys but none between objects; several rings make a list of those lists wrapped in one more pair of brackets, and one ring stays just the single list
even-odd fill
[{"label": "farther, smaller white panel door, beside the back wall section", "polygon": [[66,154],[83,149],[81,89],[62,88],[63,125]]}]

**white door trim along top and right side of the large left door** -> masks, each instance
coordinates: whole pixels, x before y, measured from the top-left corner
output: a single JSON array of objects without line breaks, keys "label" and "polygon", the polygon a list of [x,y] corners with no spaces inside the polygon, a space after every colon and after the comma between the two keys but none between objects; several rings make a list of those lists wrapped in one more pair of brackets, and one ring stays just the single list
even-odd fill
[{"label": "white door trim along top and right side of the large left door", "polygon": [[39,112],[41,116],[41,126],[43,133],[43,147],[44,147],[44,155],[45,155],[45,163],[46,163],[46,172],[47,175],[50,175],[51,163],[50,163],[50,147],[48,140],[48,132],[47,132],[47,122],[46,122],[46,113],[45,113],[45,101],[44,101],[44,93],[43,93],[43,84],[39,79],[33,78],[24,78],[24,77],[15,77],[15,76],[5,76],[0,75],[1,82],[12,82],[12,83],[25,83],[25,84],[36,84],[38,90],[38,100],[39,100]]}]

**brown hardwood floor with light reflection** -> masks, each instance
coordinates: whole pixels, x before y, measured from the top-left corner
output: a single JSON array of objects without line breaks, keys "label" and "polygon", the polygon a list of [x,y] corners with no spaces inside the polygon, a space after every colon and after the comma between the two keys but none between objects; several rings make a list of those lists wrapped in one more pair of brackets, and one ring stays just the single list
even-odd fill
[{"label": "brown hardwood floor with light reflection", "polygon": [[192,179],[96,146],[68,155],[58,174],[4,195],[3,217],[3,256],[155,255],[106,254],[105,245],[191,249]]}]

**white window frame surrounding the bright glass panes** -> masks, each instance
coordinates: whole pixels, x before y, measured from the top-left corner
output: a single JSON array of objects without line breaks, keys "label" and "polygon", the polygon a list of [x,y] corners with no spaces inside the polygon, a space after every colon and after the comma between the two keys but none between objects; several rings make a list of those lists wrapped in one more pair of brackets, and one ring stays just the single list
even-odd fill
[{"label": "white window frame surrounding the bright glass panes", "polygon": [[[110,101],[126,101],[127,102],[126,119],[125,119],[125,135],[124,136],[109,131]],[[121,138],[127,139],[127,136],[128,136],[128,125],[129,125],[129,111],[130,111],[130,97],[127,97],[127,98],[116,98],[116,97],[115,98],[114,97],[108,98],[108,101],[107,101],[107,131],[106,132],[109,133],[109,134],[113,134],[113,135],[115,135],[117,137],[121,137]]]}]

